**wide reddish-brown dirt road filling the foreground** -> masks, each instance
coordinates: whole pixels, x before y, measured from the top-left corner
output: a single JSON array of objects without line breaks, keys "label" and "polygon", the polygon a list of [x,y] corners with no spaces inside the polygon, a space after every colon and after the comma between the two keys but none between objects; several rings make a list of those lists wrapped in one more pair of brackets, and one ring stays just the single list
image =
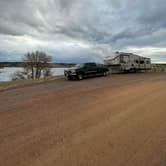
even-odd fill
[{"label": "wide reddish-brown dirt road filling the foreground", "polygon": [[166,166],[166,75],[0,92],[0,166]]}]

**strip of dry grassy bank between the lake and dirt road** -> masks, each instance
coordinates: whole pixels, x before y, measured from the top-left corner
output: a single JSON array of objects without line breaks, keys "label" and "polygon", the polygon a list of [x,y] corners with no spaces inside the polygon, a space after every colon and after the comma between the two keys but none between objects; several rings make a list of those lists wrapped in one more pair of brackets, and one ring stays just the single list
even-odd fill
[{"label": "strip of dry grassy bank between the lake and dirt road", "polygon": [[63,76],[52,76],[48,77],[46,79],[38,79],[38,80],[16,80],[16,81],[8,81],[8,82],[0,82],[0,92],[8,90],[8,89],[14,89],[19,87],[25,87],[25,86],[31,86],[35,84],[41,84],[45,82],[52,82],[55,80],[64,79]]}]

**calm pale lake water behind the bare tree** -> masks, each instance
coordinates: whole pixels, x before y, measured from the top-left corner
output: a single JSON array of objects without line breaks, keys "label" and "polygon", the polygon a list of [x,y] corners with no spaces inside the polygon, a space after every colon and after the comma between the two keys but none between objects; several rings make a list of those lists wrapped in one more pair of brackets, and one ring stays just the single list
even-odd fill
[{"label": "calm pale lake water behind the bare tree", "polygon": [[[51,72],[53,76],[60,76],[63,75],[64,70],[66,68],[52,68]],[[17,72],[23,70],[22,68],[19,67],[5,67],[5,68],[0,68],[0,82],[2,81],[10,81],[12,75]]]}]

